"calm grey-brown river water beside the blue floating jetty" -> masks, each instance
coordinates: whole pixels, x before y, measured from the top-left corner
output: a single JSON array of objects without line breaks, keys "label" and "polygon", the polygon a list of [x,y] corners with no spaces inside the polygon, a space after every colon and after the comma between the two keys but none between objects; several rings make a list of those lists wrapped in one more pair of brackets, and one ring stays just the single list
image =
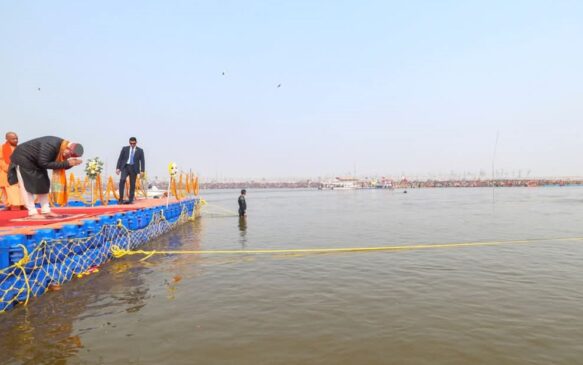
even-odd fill
[{"label": "calm grey-brown river water beside the blue floating jetty", "polygon": [[202,195],[144,249],[445,245],[111,261],[0,315],[0,363],[583,364],[583,188]]}]

